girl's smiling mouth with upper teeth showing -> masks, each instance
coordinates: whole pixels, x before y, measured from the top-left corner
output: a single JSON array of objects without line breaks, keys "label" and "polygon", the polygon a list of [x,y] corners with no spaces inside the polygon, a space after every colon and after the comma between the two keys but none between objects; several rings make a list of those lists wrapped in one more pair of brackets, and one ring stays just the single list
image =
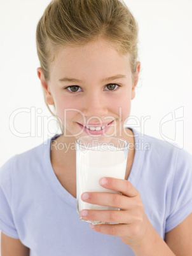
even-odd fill
[{"label": "girl's smiling mouth with upper teeth showing", "polygon": [[114,120],[111,121],[110,123],[102,123],[102,124],[89,124],[89,125],[83,125],[79,124],[78,125],[85,131],[87,134],[92,134],[92,135],[100,135],[104,134],[109,127],[113,124]]}]

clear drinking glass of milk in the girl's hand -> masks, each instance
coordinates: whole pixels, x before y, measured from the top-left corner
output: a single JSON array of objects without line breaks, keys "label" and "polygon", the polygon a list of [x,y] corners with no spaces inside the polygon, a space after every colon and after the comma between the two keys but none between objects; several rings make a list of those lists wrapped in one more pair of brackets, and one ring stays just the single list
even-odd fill
[{"label": "clear drinking glass of milk in the girl's hand", "polygon": [[[76,187],[77,211],[120,210],[109,206],[85,203],[81,200],[83,192],[111,192],[101,187],[99,179],[113,177],[125,179],[128,156],[128,141],[117,137],[82,136],[76,139]],[[119,193],[120,194],[120,193]],[[79,215],[80,220],[84,220]],[[92,224],[104,224],[100,221],[84,220]]]}]

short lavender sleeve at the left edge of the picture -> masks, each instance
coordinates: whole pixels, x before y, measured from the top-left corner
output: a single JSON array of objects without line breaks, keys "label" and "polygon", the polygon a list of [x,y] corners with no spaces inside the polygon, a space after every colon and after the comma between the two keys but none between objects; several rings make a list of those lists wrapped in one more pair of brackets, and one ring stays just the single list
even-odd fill
[{"label": "short lavender sleeve at the left edge of the picture", "polygon": [[0,168],[0,230],[11,238],[18,239],[11,211],[11,164],[13,158]]}]

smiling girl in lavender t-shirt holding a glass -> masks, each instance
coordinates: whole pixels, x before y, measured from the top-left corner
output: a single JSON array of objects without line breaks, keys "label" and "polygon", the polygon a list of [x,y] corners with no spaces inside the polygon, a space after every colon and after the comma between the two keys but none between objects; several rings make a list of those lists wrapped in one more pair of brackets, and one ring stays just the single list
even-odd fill
[{"label": "smiling girl in lavender t-shirt holding a glass", "polygon": [[[55,0],[39,20],[38,77],[62,134],[12,157],[0,172],[1,252],[7,255],[191,255],[192,157],[125,127],[139,79],[137,23],[123,1]],[[125,180],[103,177],[76,212],[76,152],[83,135],[130,143]],[[143,150],[135,148],[139,141]],[[67,148],[67,150],[66,150]]]}]

